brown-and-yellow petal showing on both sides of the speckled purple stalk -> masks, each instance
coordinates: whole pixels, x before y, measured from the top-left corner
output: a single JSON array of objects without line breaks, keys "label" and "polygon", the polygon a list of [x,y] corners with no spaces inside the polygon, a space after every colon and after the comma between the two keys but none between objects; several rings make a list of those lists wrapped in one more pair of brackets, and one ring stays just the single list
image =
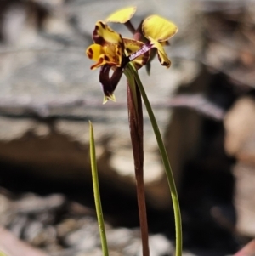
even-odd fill
[{"label": "brown-and-yellow petal showing on both sides of the speckled purple stalk", "polygon": [[[125,50],[127,51],[128,55],[137,52],[144,45],[144,43],[130,39],[130,38],[123,38],[123,42],[125,45]],[[150,51],[142,55],[139,55],[139,57],[134,59],[132,62],[133,62],[133,65],[135,65],[136,69],[139,70],[139,68],[141,68],[143,65],[147,63],[149,58],[150,58]]]}]

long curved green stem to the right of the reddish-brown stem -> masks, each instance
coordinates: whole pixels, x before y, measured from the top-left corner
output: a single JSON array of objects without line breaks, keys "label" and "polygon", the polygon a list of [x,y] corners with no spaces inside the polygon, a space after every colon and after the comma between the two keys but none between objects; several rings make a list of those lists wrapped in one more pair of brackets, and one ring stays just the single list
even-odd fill
[{"label": "long curved green stem to the right of the reddish-brown stem", "polygon": [[165,145],[163,143],[163,140],[161,138],[161,133],[158,128],[156,118],[154,116],[154,113],[152,111],[150,101],[147,98],[147,95],[144,90],[144,86],[139,78],[139,75],[133,65],[131,63],[128,63],[126,66],[126,71],[129,73],[129,75],[132,75],[139,87],[139,91],[143,97],[144,100],[144,105],[146,106],[146,109],[148,111],[148,115],[150,117],[150,122],[152,125],[152,128],[154,130],[154,134],[156,136],[156,141],[159,147],[159,151],[161,152],[161,159],[164,164],[164,168],[167,174],[167,180],[168,180],[168,185],[170,187],[171,191],[171,196],[172,196],[172,201],[173,201],[173,212],[174,212],[174,221],[175,221],[175,229],[176,229],[176,256],[181,256],[182,255],[182,223],[181,223],[181,213],[180,213],[180,208],[179,208],[179,202],[178,202],[178,193],[176,190],[174,178],[173,178],[173,171],[167,156],[167,151],[165,148]]}]

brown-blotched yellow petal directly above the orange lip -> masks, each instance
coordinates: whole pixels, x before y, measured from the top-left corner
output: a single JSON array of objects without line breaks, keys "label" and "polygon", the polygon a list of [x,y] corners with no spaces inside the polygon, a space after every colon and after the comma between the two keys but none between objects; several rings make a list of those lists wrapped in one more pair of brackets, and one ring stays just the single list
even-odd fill
[{"label": "brown-blotched yellow petal directly above the orange lip", "polygon": [[103,21],[98,21],[95,25],[93,34],[94,43],[105,45],[107,43],[122,44],[122,36],[112,30],[110,26]]}]

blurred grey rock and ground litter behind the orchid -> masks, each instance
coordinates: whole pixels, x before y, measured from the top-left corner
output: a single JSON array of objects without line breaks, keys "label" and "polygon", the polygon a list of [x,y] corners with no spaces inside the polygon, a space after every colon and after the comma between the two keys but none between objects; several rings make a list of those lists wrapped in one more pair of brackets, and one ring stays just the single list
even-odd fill
[{"label": "blurred grey rock and ground litter behind the orchid", "polygon": [[[227,0],[1,0],[0,250],[101,255],[88,160],[94,123],[111,255],[141,255],[125,79],[102,105],[84,55],[97,20],[136,5],[173,20],[140,77],[178,186],[184,255],[230,255],[255,236],[255,3]],[[113,26],[131,37],[124,26]],[[144,179],[153,256],[173,255],[173,209],[144,113]]]}]

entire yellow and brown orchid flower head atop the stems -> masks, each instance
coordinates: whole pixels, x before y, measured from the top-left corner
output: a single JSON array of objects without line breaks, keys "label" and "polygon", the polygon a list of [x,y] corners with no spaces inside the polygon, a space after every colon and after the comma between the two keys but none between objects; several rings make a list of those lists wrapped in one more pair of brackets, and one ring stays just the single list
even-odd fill
[{"label": "entire yellow and brown orchid flower head atop the stems", "polygon": [[[132,61],[135,68],[139,70],[143,65],[149,64],[150,52],[155,48],[161,65],[165,65],[167,68],[171,65],[162,46],[178,31],[171,21],[157,15],[146,18],[137,31],[133,29],[134,32],[140,34],[139,38],[142,38],[144,43],[122,37],[106,24],[106,22],[117,22],[130,28],[132,27],[130,19],[135,11],[135,7],[128,7],[111,14],[105,22],[99,20],[94,28],[94,44],[86,50],[88,58],[96,62],[91,69],[100,67],[99,82],[105,94],[103,103],[107,100],[116,101],[113,93],[122,77],[123,69],[129,61]],[[113,74],[110,77],[111,70],[113,70]]]}]

